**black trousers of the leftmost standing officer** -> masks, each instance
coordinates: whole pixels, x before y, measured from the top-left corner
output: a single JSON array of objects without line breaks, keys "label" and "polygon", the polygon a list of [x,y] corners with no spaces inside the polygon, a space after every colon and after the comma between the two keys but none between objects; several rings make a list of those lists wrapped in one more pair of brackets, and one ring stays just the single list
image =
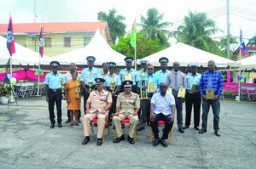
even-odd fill
[{"label": "black trousers of the leftmost standing officer", "polygon": [[55,124],[55,104],[57,109],[57,122],[61,123],[61,89],[58,89],[57,91],[53,91],[51,89],[48,90],[48,97],[49,97],[49,121],[52,124]]}]

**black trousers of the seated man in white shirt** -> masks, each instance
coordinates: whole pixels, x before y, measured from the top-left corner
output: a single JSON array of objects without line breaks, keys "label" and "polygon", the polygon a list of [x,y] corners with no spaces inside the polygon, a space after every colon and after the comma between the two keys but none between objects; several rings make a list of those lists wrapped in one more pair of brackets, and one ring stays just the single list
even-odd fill
[{"label": "black trousers of the seated man in white shirt", "polygon": [[173,122],[170,121],[170,115],[163,115],[162,113],[154,116],[154,121],[151,121],[151,128],[154,133],[154,138],[159,138],[159,129],[157,121],[165,121],[165,128],[161,139],[167,139],[169,132],[172,130]]}]

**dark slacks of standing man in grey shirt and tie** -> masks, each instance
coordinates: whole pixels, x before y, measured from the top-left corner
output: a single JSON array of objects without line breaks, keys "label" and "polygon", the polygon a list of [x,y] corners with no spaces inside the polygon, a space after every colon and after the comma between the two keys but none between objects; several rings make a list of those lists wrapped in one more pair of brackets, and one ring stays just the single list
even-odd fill
[{"label": "dark slacks of standing man in grey shirt and tie", "polygon": [[177,127],[183,127],[183,98],[177,98],[177,91],[172,90],[177,110]]}]

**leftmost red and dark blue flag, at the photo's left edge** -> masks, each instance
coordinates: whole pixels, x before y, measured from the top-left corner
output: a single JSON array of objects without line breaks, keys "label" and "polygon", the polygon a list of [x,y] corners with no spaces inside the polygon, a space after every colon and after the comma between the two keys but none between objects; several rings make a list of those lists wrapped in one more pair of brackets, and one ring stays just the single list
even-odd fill
[{"label": "leftmost red and dark blue flag, at the photo's left edge", "polygon": [[15,54],[15,38],[14,38],[14,31],[13,31],[13,21],[12,17],[9,17],[9,25],[7,30],[7,48],[9,50],[9,55]]}]

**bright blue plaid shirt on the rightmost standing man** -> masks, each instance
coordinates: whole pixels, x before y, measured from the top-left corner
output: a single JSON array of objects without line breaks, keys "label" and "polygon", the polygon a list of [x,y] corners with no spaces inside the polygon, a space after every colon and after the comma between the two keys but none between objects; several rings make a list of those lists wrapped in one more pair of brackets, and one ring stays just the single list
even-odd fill
[{"label": "bright blue plaid shirt on the rightmost standing man", "polygon": [[200,80],[200,93],[201,95],[206,94],[207,88],[213,88],[214,94],[220,96],[223,90],[224,80],[221,72],[218,70],[205,71]]}]

